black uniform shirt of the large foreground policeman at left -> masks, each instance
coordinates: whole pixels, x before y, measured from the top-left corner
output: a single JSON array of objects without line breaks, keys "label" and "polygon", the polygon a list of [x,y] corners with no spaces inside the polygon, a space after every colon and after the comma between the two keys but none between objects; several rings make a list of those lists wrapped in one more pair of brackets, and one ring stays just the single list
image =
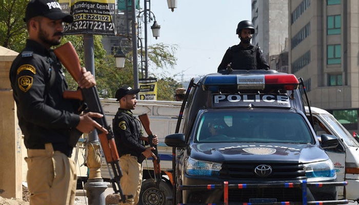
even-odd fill
[{"label": "black uniform shirt of the large foreground policeman at left", "polygon": [[54,150],[70,156],[70,134],[82,134],[75,129],[79,115],[74,111],[79,102],[62,97],[67,83],[53,51],[28,39],[25,49],[13,61],[10,81],[26,148],[44,149],[51,142]]}]

